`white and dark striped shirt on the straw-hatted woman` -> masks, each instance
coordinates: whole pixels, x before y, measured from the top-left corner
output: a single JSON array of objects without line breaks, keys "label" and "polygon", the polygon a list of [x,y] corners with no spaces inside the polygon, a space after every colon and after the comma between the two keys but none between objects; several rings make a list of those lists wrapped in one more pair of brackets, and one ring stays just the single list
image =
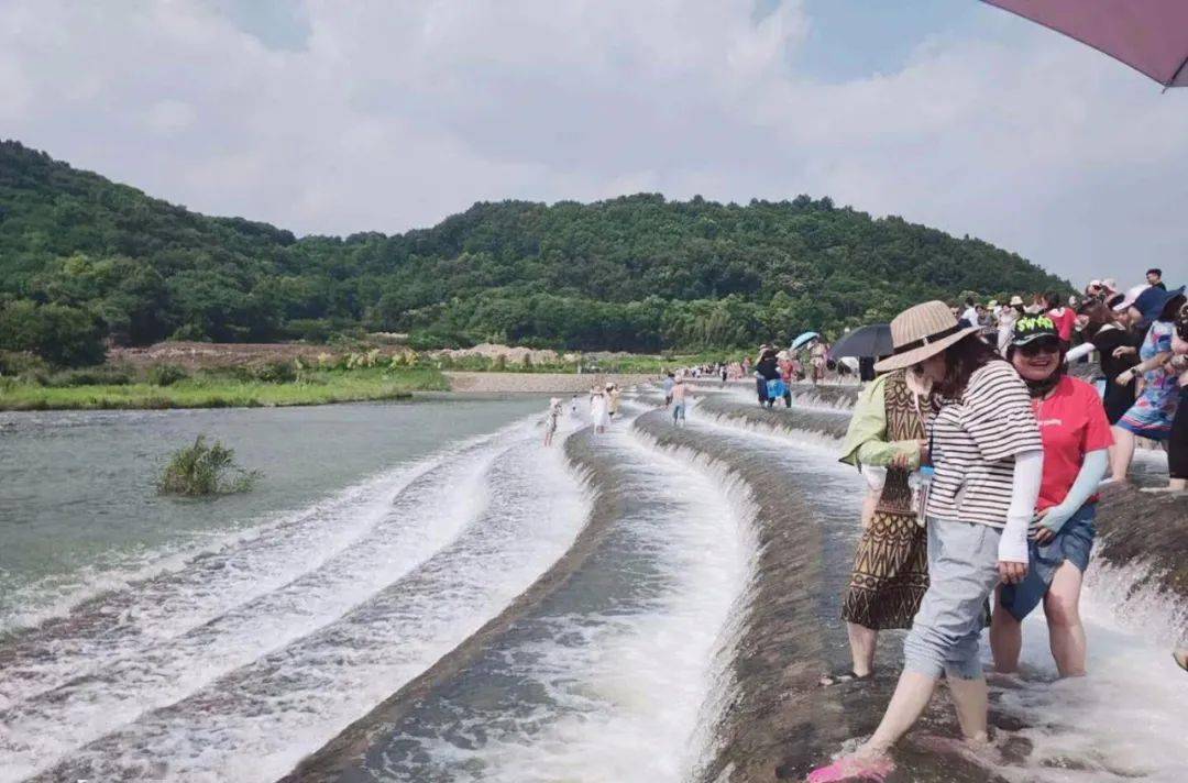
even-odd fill
[{"label": "white and dark striped shirt on the straw-hatted woman", "polygon": [[933,419],[928,516],[1003,528],[1016,455],[1042,450],[1026,385],[1011,365],[991,361]]}]

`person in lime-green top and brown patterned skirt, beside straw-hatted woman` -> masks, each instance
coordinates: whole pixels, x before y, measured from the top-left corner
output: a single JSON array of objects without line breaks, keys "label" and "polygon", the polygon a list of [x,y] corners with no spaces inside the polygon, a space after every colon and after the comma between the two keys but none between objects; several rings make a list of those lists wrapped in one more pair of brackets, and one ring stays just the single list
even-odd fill
[{"label": "person in lime-green top and brown patterned skirt, beside straw-hatted woman", "polygon": [[874,674],[878,632],[910,627],[928,589],[928,537],[912,507],[909,476],[928,459],[931,385],[917,367],[895,370],[868,384],[854,405],[841,461],[872,481],[876,501],[873,509],[864,504],[862,537],[841,607],[853,668],[822,677],[822,686]]}]

